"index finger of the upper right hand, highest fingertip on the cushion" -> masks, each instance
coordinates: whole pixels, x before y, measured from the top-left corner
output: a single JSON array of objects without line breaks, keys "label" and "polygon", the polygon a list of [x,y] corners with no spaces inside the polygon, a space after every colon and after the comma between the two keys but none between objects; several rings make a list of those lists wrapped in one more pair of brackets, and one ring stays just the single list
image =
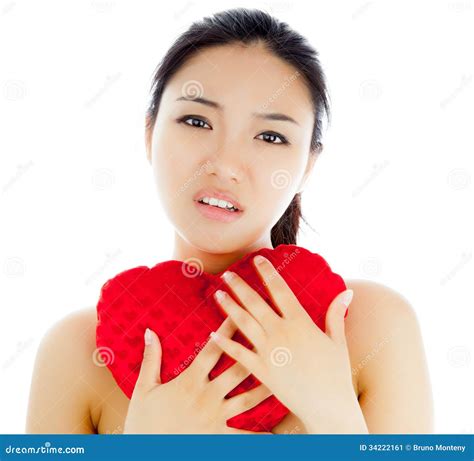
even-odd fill
[{"label": "index finger of the upper right hand, highest fingertip on the cushion", "polygon": [[262,278],[268,295],[283,317],[297,318],[301,316],[302,308],[298,298],[273,264],[262,255],[255,256],[253,263]]}]

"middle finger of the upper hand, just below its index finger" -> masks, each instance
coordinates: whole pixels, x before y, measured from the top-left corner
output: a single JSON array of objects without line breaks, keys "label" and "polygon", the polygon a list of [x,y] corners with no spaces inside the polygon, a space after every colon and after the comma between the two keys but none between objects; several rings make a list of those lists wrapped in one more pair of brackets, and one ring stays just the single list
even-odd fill
[{"label": "middle finger of the upper hand, just below its index finger", "polygon": [[260,324],[261,328],[270,331],[280,316],[242,277],[235,272],[226,271],[222,278],[238,298],[240,304]]}]

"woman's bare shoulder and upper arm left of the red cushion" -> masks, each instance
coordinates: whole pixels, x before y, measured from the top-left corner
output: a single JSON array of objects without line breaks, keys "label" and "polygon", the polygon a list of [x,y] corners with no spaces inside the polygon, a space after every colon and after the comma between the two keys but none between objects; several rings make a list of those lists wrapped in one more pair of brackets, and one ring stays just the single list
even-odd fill
[{"label": "woman's bare shoulder and upper arm left of the red cushion", "polygon": [[97,383],[95,308],[72,312],[44,334],[36,354],[27,433],[95,433]]}]

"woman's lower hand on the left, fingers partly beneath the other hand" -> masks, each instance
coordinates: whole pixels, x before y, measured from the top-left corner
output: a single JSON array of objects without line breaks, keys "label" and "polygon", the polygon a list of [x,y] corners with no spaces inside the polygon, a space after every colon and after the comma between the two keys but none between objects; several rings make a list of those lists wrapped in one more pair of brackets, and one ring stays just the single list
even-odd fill
[{"label": "woman's lower hand on the left, fingers partly beneath the other hand", "polygon": [[[222,337],[232,337],[237,330],[230,318],[217,330]],[[208,374],[222,351],[208,341],[191,365],[176,378],[162,384],[161,344],[150,331],[151,343],[145,341],[140,373],[129,403],[124,434],[271,434],[227,426],[227,419],[240,414],[271,395],[264,385],[230,399],[224,397],[250,372],[235,363],[212,381]],[[146,335],[145,335],[146,336]]]}]

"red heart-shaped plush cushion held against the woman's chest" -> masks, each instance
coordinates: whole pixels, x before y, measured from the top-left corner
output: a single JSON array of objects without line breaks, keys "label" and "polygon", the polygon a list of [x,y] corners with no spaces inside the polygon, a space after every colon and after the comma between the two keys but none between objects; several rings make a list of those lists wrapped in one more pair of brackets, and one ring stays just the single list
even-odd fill
[{"label": "red heart-shaped plush cushion held against the woman's chest", "polygon": [[[321,256],[297,245],[262,248],[231,264],[228,269],[239,274],[273,309],[275,306],[253,265],[252,258],[257,254],[272,262],[313,321],[325,331],[326,311],[335,296],[346,289],[342,277],[332,272]],[[140,371],[143,334],[147,327],[154,330],[161,341],[163,384],[185,370],[204,347],[210,332],[218,329],[227,314],[213,294],[223,288],[232,296],[221,274],[202,272],[191,261],[170,260],[151,269],[139,266],[125,270],[105,282],[97,304],[98,353],[128,398],[132,396]],[[240,331],[233,339],[252,348]],[[223,353],[209,373],[209,379],[234,363],[234,359]],[[250,375],[226,397],[259,384],[260,381]],[[227,425],[270,432],[288,413],[288,408],[271,395],[250,410],[228,419]]]}]

